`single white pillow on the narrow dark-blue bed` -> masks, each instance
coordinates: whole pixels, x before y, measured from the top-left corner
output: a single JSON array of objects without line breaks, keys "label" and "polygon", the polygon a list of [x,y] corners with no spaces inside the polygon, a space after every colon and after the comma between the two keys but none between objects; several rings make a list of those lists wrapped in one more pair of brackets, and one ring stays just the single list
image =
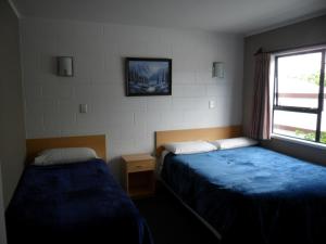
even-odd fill
[{"label": "single white pillow on the narrow dark-blue bed", "polygon": [[34,165],[60,165],[86,162],[98,158],[97,153],[88,147],[65,147],[45,150],[34,159]]}]

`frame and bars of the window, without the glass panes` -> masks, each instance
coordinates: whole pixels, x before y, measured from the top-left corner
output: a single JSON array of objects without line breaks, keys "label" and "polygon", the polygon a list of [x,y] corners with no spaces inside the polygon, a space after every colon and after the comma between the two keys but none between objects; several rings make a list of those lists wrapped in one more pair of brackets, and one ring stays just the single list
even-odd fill
[{"label": "frame and bars of the window, without the glass panes", "polygon": [[[321,72],[319,72],[319,91],[318,91],[318,106],[316,108],[314,107],[302,107],[302,106],[285,106],[285,105],[278,105],[278,59],[279,57],[286,57],[286,56],[293,56],[293,55],[302,55],[302,54],[311,54],[311,53],[321,53]],[[275,68],[274,68],[274,89],[273,89],[273,113],[272,113],[272,133],[281,136],[281,137],[288,137],[288,138],[294,138],[296,140],[301,141],[308,141],[308,142],[314,142],[318,144],[324,144],[321,142],[321,127],[322,127],[322,113],[324,110],[324,82],[325,82],[325,69],[326,69],[326,47],[325,48],[316,48],[309,51],[291,51],[290,53],[279,53],[274,54],[274,62],[275,62]],[[315,140],[306,140],[302,138],[296,138],[288,134],[281,134],[274,132],[274,112],[275,111],[286,111],[286,112],[293,112],[293,113],[305,113],[305,114],[315,114],[317,116],[316,118],[316,129],[315,129]],[[325,118],[326,119],[326,118]]]}]

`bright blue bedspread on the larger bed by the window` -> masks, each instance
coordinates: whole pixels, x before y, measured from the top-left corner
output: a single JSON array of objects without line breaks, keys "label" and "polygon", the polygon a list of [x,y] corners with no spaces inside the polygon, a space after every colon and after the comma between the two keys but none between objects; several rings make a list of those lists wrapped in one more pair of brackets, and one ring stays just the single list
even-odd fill
[{"label": "bright blue bedspread on the larger bed by the window", "polygon": [[161,175],[226,243],[326,243],[326,167],[249,146],[167,154]]}]

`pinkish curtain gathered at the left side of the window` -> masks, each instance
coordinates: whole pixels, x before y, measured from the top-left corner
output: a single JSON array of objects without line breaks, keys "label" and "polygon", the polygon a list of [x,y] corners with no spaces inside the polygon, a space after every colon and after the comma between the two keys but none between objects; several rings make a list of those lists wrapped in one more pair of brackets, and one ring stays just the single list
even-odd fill
[{"label": "pinkish curtain gathered at the left side of the window", "polygon": [[255,55],[254,95],[250,137],[259,140],[271,138],[269,105],[271,54],[260,52]]}]

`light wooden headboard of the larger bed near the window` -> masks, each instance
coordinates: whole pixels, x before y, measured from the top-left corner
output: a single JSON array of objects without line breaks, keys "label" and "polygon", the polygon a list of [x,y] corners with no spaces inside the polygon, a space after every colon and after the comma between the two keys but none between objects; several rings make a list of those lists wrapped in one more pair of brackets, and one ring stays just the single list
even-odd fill
[{"label": "light wooden headboard of the larger bed near the window", "polygon": [[242,136],[242,126],[214,127],[186,130],[165,130],[155,132],[156,155],[160,156],[164,144],[181,141],[214,141],[217,139],[236,138]]}]

